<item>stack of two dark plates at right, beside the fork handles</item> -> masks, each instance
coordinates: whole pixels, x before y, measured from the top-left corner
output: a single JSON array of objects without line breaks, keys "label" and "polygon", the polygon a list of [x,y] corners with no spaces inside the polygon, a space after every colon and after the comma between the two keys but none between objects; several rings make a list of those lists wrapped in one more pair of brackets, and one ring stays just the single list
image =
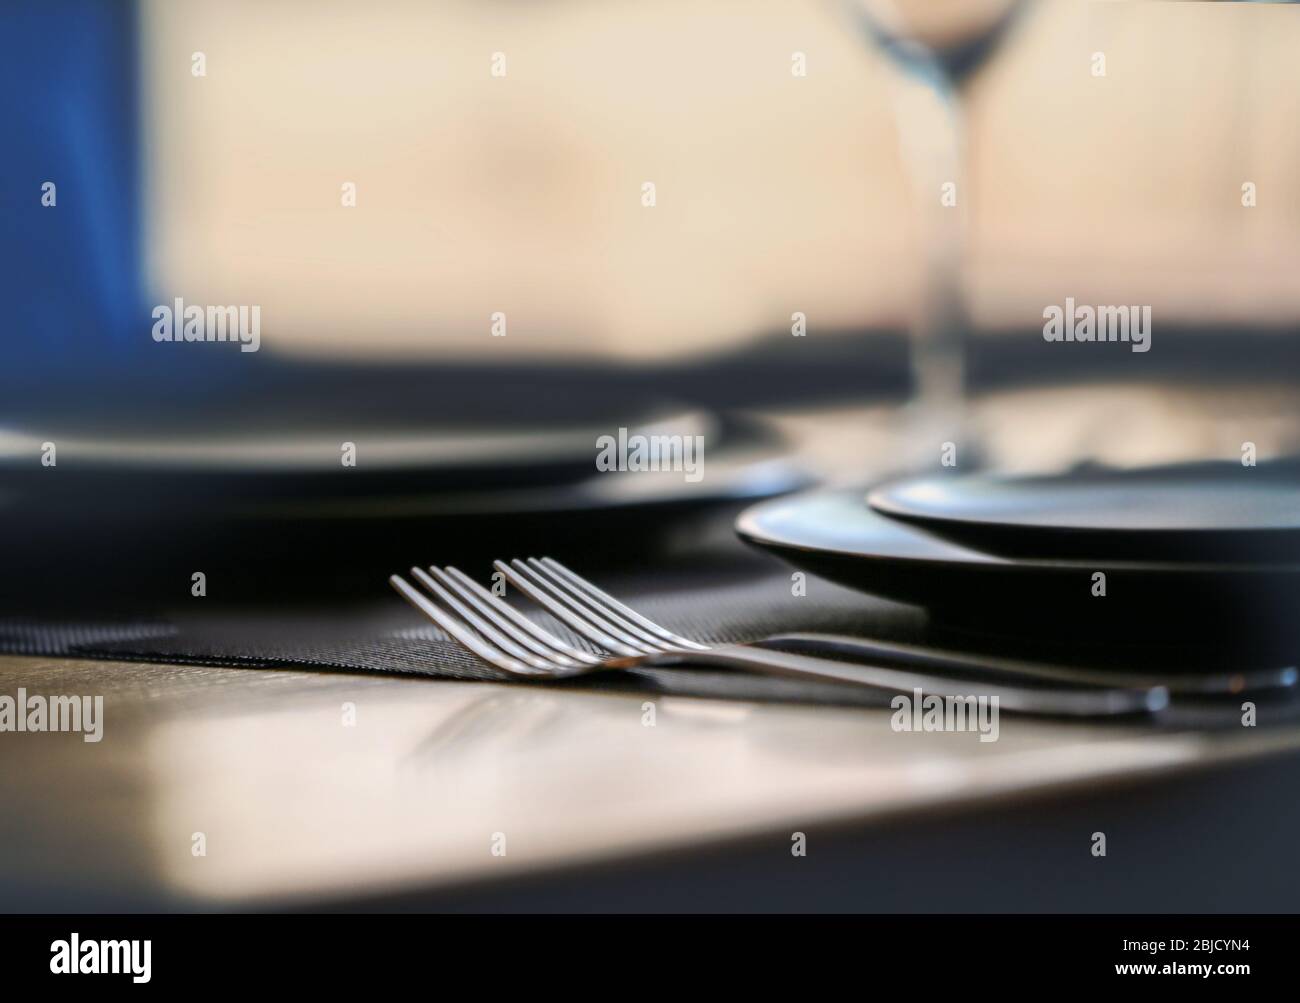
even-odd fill
[{"label": "stack of two dark plates at right, beside the fork handles", "polygon": [[936,618],[1071,637],[1297,633],[1300,464],[915,477],[777,499],[748,542]]}]

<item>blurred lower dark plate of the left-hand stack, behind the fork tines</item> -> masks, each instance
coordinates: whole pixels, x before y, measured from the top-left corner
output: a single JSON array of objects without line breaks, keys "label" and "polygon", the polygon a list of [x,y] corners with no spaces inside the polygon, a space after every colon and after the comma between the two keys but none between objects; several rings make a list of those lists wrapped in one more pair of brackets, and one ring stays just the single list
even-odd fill
[{"label": "blurred lower dark plate of the left-hand stack, behind the fork tines", "polygon": [[[551,483],[446,487],[438,470],[432,485],[373,476],[350,492],[317,496],[296,477],[280,494],[255,494],[213,474],[214,491],[188,490],[179,503],[150,496],[151,485],[168,482],[136,470],[121,476],[116,495],[107,479],[84,492],[64,485],[77,464],[65,465],[62,451],[53,473],[29,463],[36,472],[26,491],[6,491],[0,468],[0,611],[57,603],[101,613],[114,603],[134,613],[142,603],[188,602],[195,570],[213,583],[211,595],[230,602],[373,598],[394,569],[412,563],[491,560],[538,540],[602,560],[644,560],[666,539],[725,526],[757,499],[811,482],[774,430],[733,418],[719,420],[698,481],[681,472],[595,473],[594,435],[580,446],[584,476],[554,474]],[[52,487],[32,487],[43,485]]]}]

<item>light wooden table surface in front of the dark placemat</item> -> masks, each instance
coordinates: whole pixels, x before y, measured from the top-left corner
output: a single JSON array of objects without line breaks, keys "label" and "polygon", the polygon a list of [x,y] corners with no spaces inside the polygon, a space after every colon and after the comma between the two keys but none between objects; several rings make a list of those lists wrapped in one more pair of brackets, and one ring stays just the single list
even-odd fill
[{"label": "light wooden table surface in front of the dark placemat", "polygon": [[1002,715],[980,743],[878,709],[0,657],[18,687],[104,696],[98,743],[0,734],[0,908],[21,911],[329,906],[741,838],[788,859],[796,832],[1300,748],[1297,728]]}]

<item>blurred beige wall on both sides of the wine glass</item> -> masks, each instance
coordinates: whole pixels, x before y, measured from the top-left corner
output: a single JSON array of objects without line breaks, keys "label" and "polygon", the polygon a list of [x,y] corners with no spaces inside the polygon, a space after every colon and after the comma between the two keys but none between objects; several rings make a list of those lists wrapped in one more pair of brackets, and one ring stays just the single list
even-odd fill
[{"label": "blurred beige wall on both sides of the wine glass", "polygon": [[[156,295],[260,304],[270,349],[634,359],[915,309],[900,77],[844,3],[151,0],[144,27]],[[1034,6],[970,90],[978,322],[1067,295],[1300,322],[1297,53],[1296,8]]]}]

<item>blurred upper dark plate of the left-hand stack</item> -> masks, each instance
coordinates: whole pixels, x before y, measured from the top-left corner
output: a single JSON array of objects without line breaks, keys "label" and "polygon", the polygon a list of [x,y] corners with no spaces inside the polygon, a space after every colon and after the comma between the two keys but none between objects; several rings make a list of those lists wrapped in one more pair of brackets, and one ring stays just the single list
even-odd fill
[{"label": "blurred upper dark plate of the left-hand stack", "polygon": [[[662,408],[625,420],[630,433],[703,434],[723,424],[705,411]],[[588,481],[597,440],[619,425],[406,427],[234,425],[213,429],[114,426],[0,427],[0,512],[35,508],[81,517],[183,514],[191,521],[255,507],[403,500],[555,489]],[[42,465],[44,443],[57,465]],[[355,464],[344,466],[343,444]],[[92,503],[87,509],[87,502]]]}]

